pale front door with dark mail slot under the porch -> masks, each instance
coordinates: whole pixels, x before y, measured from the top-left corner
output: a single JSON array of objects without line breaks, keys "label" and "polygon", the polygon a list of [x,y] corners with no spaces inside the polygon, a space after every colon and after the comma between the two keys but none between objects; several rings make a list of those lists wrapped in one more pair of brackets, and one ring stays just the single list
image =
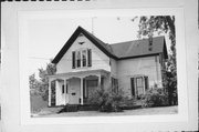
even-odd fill
[{"label": "pale front door with dark mail slot under the porch", "polygon": [[70,104],[80,104],[80,92],[81,92],[81,82],[80,79],[71,79],[69,81],[69,103]]}]

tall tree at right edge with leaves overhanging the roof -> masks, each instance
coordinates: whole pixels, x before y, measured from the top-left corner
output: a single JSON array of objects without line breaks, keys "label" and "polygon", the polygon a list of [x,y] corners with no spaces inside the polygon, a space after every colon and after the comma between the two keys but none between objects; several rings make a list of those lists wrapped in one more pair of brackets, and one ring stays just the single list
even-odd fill
[{"label": "tall tree at right edge with leaves overhanging the roof", "polygon": [[[134,19],[133,19],[134,20]],[[167,33],[171,45],[164,71],[164,87],[167,88],[169,104],[177,104],[176,29],[175,16],[150,16],[139,18],[138,38]]]}]

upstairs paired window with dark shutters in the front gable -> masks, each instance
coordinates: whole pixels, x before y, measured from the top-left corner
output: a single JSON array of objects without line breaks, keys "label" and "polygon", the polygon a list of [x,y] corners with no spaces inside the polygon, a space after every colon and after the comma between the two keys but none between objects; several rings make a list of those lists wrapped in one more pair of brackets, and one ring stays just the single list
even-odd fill
[{"label": "upstairs paired window with dark shutters in the front gable", "polygon": [[83,49],[72,52],[72,69],[92,67],[91,49]]}]

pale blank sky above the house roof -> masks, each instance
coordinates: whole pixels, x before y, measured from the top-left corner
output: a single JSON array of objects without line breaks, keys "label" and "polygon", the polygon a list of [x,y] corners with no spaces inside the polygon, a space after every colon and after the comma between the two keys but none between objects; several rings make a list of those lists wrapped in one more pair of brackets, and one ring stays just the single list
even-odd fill
[{"label": "pale blank sky above the house roof", "polygon": [[30,74],[38,74],[81,26],[105,43],[137,40],[138,19],[134,17],[40,19],[29,22]]}]

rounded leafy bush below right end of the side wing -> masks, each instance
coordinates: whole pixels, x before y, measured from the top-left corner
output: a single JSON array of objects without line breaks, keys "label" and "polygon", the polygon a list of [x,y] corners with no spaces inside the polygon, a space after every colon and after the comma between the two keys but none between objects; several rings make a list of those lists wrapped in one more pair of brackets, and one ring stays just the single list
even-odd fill
[{"label": "rounded leafy bush below right end of the side wing", "polygon": [[168,105],[168,95],[163,89],[151,89],[142,95],[143,106],[166,106]]}]

